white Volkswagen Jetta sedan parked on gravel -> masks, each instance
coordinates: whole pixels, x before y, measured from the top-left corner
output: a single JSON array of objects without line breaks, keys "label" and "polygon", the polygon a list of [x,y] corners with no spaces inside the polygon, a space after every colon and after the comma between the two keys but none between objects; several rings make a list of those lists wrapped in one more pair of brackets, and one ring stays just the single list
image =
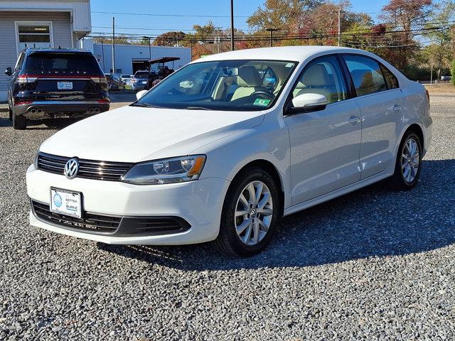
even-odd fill
[{"label": "white Volkswagen Jetta sedan parked on gravel", "polygon": [[424,87],[372,53],[211,55],[46,140],[27,171],[30,222],[251,256],[283,215],[385,178],[413,188],[431,136]]}]

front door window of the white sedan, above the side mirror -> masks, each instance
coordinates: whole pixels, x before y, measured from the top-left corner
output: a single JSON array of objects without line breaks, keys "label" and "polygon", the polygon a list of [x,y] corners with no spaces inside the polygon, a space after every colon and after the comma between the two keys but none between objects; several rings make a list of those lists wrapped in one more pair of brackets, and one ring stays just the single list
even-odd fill
[{"label": "front door window of the white sedan, above the side mirror", "polygon": [[335,56],[317,58],[306,65],[292,90],[292,98],[300,94],[323,94],[327,103],[348,98],[343,73]]}]

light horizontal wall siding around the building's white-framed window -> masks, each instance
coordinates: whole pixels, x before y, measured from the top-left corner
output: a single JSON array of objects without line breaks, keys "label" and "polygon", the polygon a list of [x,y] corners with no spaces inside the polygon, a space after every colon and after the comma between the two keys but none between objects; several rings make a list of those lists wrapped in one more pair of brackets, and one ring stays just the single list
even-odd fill
[{"label": "light horizontal wall siding around the building's white-framed window", "polygon": [[[72,47],[70,13],[58,12],[12,12],[0,11],[0,71],[14,67],[16,50],[16,27],[14,21],[51,21],[54,47]],[[8,77],[0,75],[0,101],[4,100]]]}]

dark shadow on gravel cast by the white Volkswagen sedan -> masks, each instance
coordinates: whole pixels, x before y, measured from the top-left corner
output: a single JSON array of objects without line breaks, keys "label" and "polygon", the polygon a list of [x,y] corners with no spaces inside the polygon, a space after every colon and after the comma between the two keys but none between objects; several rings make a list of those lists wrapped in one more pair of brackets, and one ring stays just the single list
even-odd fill
[{"label": "dark shadow on gravel cast by the white Volkswagen sedan", "polygon": [[387,189],[387,180],[284,217],[272,244],[250,259],[220,254],[211,244],[116,246],[105,251],[181,270],[257,269],[398,256],[455,242],[455,160],[423,161],[417,188]]}]

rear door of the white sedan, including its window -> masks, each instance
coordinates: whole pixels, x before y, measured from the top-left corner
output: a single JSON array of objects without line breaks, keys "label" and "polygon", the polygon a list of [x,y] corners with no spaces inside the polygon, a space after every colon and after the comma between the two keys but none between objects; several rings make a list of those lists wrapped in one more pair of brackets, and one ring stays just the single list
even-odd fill
[{"label": "rear door of the white sedan, including its window", "polygon": [[362,115],[360,167],[365,179],[395,164],[393,151],[400,134],[403,95],[395,75],[377,60],[348,54],[343,59]]}]

